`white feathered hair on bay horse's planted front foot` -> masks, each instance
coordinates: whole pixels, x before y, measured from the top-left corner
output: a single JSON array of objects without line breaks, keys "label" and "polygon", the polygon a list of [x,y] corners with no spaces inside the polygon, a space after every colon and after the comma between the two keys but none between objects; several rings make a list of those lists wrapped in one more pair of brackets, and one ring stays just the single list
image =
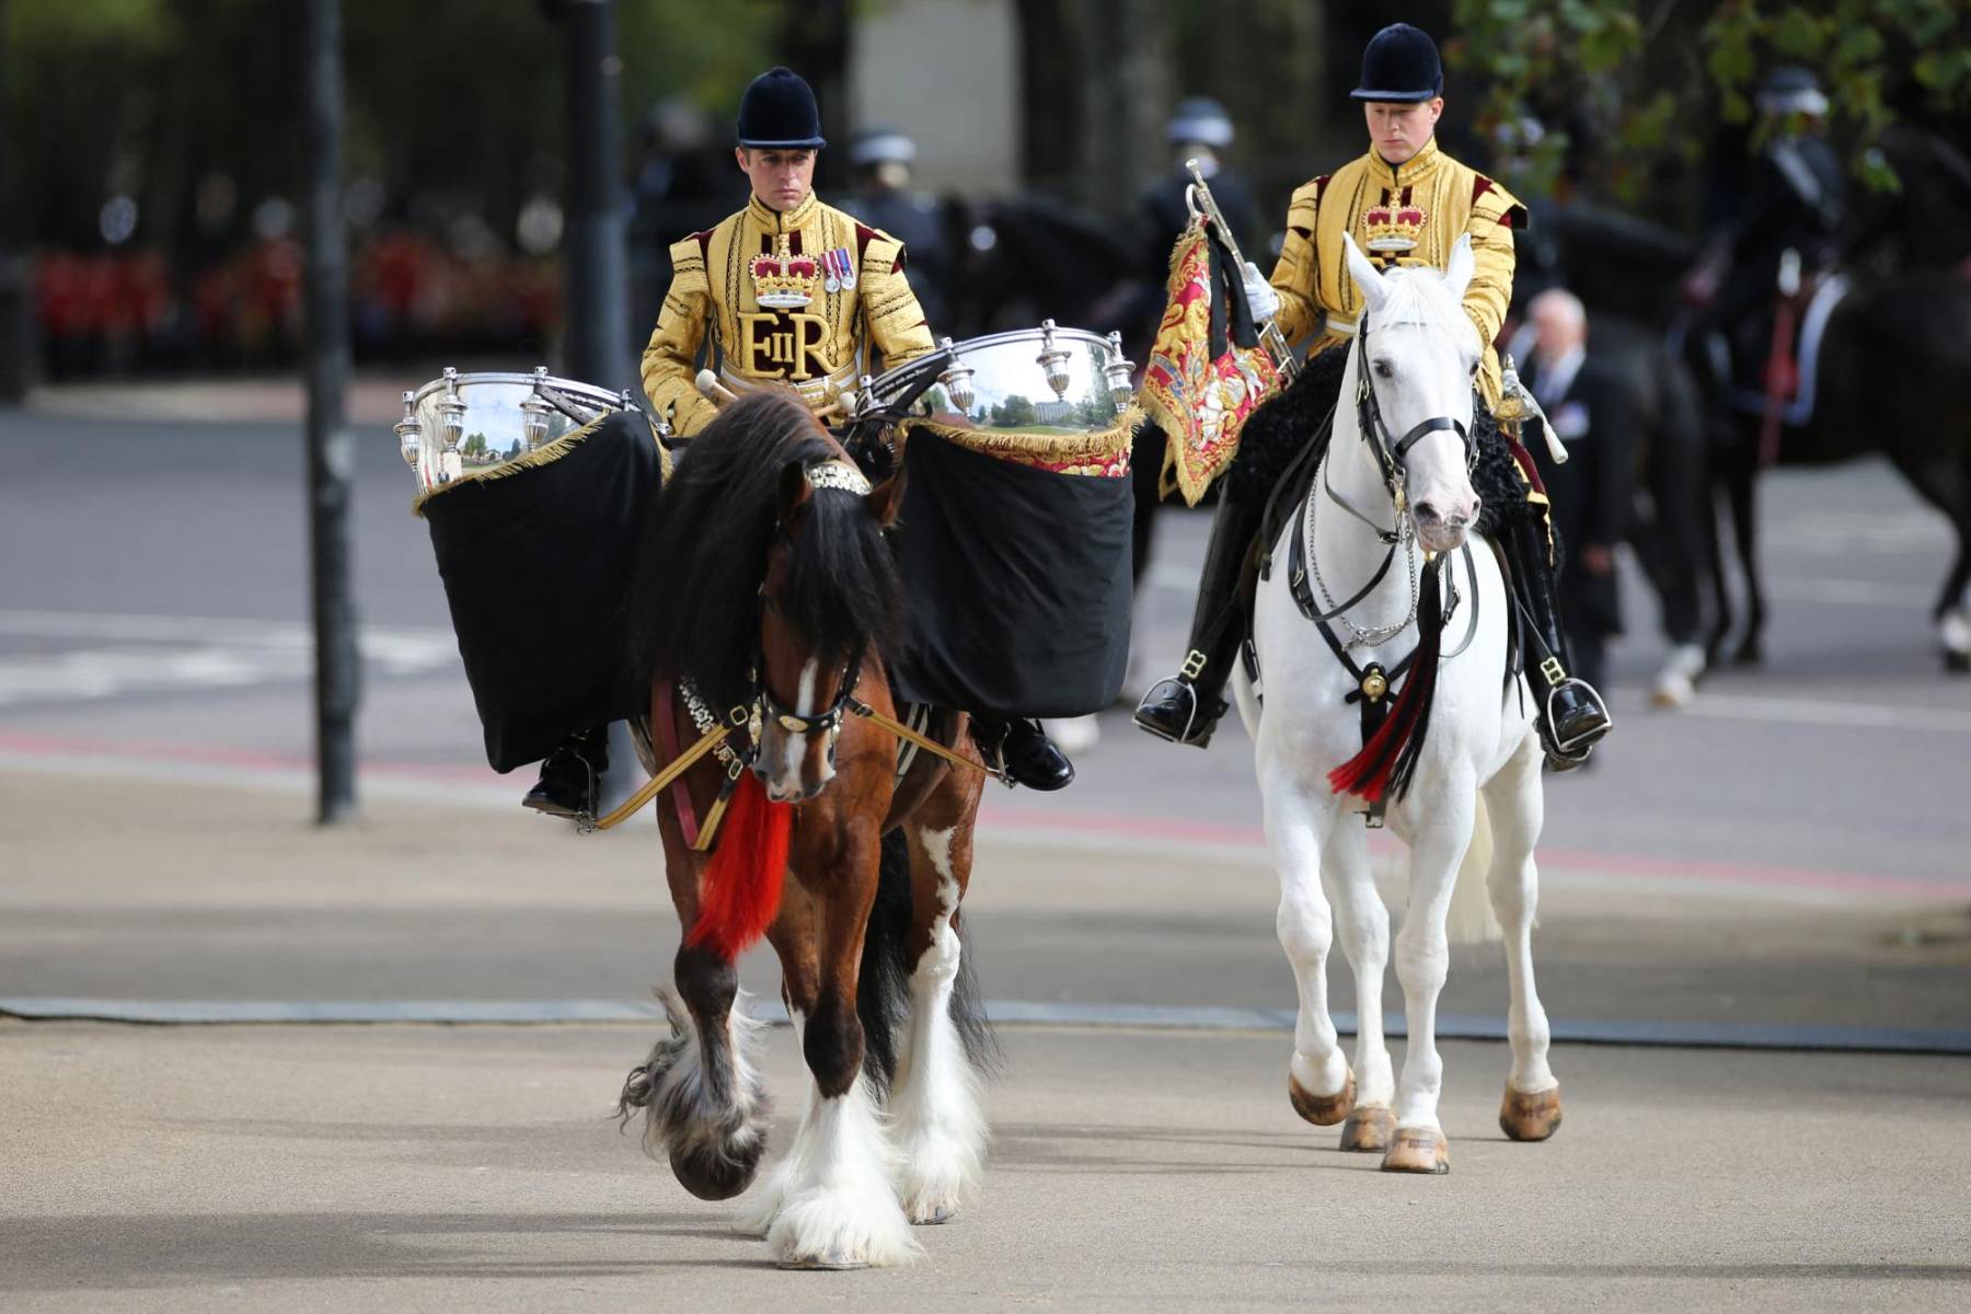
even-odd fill
[{"label": "white feathered hair on bay horse's planted front foot", "polygon": [[761,1206],[767,1251],[784,1265],[905,1265],[922,1249],[891,1186],[897,1154],[867,1078],[846,1095],[810,1095],[800,1131]]}]

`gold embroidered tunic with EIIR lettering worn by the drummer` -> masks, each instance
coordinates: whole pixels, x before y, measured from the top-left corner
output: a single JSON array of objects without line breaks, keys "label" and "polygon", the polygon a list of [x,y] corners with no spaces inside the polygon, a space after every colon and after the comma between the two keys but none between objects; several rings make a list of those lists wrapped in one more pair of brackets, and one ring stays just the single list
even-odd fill
[{"label": "gold embroidered tunic with EIIR lettering worn by the drummer", "polygon": [[903,276],[903,242],[822,205],[790,211],[753,197],[710,232],[670,248],[672,280],[643,351],[643,390],[678,433],[714,406],[698,392],[698,349],[733,392],[792,386],[810,410],[863,374],[871,351],[891,368],[932,351],[930,327]]}]

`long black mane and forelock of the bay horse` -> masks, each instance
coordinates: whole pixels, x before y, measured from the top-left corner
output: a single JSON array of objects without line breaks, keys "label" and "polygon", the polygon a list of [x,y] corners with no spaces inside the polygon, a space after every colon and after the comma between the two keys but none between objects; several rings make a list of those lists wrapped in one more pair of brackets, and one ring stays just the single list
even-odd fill
[{"label": "long black mane and forelock of the bay horse", "polygon": [[[781,473],[840,449],[788,392],[747,394],[678,459],[645,532],[629,591],[629,670],[698,686],[723,713],[751,695],[759,585],[779,528]],[[897,567],[855,493],[816,489],[790,546],[782,615],[824,666],[891,638]]]}]

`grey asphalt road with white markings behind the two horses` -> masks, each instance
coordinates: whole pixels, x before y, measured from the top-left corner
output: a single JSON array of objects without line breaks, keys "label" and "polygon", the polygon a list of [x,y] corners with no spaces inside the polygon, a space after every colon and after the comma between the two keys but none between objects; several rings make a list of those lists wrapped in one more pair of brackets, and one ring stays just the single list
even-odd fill
[{"label": "grey asphalt road with white markings behind the two horses", "polygon": [[[0,410],[0,753],[307,764],[300,431],[146,418],[256,398],[95,390]],[[363,429],[355,481],[365,788],[485,786],[410,477],[380,424]],[[1662,642],[1630,571],[1618,729],[1591,770],[1553,780],[1549,865],[1971,896],[1971,680],[1939,674],[1928,621],[1943,520],[1869,463],[1774,475],[1764,504],[1768,668],[1715,674],[1681,713],[1646,711]],[[1137,624],[1145,680],[1183,648],[1208,528],[1198,512],[1163,524]],[[1102,729],[1072,790],[995,796],[993,816],[1167,843],[1256,837],[1242,731],[1194,753],[1141,737],[1121,709]]]}]

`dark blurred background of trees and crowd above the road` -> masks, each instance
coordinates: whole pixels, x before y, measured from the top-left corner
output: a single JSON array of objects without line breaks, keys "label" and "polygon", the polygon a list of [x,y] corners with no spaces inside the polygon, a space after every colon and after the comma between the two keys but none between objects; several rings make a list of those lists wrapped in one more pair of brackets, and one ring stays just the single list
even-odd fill
[{"label": "dark blurred background of trees and crowd above the road", "polygon": [[[359,361],[554,357],[568,183],[554,8],[347,6]],[[1401,14],[623,0],[623,331],[641,343],[654,321],[666,244],[743,201],[733,108],[784,61],[828,120],[822,195],[907,236],[940,333],[1053,313],[1141,341],[1175,236],[1177,158],[1202,148],[1236,171],[1234,221],[1263,262],[1291,187],[1360,150],[1346,89],[1366,37],[1397,16],[1445,41],[1447,150],[1528,199],[1701,236],[1733,205],[1756,87],[1784,59],[1829,93],[1863,197],[1851,223],[1963,244],[1965,215],[1922,191],[1932,165],[1908,165],[1941,146],[1945,173],[1963,167],[1971,18],[1957,0],[1423,0]],[[300,41],[296,4],[0,0],[0,288],[16,301],[0,357],[16,374],[22,361],[49,380],[292,362]]]}]

